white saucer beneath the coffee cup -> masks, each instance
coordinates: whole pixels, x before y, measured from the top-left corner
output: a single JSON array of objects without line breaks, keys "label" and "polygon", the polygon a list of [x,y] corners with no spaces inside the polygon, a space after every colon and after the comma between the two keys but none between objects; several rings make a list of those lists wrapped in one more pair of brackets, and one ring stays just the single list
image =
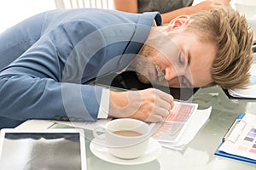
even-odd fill
[{"label": "white saucer beneath the coffee cup", "polygon": [[[101,142],[102,143],[102,142]],[[112,156],[108,153],[108,148],[105,144],[99,144],[98,139],[92,139],[90,142],[90,151],[98,158],[103,161],[108,161],[120,165],[137,165],[147,163],[149,161],[154,161],[158,156],[160,156],[161,145],[155,139],[150,138],[148,142],[148,149],[143,156],[137,157],[135,159],[121,159]]]}]

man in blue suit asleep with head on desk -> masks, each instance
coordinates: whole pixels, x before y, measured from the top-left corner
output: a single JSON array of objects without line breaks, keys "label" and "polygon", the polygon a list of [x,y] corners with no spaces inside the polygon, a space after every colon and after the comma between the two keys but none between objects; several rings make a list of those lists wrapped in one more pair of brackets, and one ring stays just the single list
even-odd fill
[{"label": "man in blue suit asleep with head on desk", "polygon": [[[243,88],[252,42],[246,19],[233,10],[182,15],[168,26],[160,26],[156,12],[85,8],[38,14],[0,36],[0,126],[59,117],[160,122],[173,98],[156,85]],[[137,71],[153,88],[117,92],[89,84],[122,71]]]}]

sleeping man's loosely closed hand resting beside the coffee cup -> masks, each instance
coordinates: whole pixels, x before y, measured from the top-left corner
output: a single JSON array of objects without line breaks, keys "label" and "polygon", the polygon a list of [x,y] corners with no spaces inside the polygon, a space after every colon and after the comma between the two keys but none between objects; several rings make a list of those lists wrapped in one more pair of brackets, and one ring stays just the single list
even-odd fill
[{"label": "sleeping man's loosely closed hand resting beside the coffee cup", "polygon": [[161,122],[174,105],[173,97],[158,89],[110,91],[110,117],[129,117],[145,122]]}]

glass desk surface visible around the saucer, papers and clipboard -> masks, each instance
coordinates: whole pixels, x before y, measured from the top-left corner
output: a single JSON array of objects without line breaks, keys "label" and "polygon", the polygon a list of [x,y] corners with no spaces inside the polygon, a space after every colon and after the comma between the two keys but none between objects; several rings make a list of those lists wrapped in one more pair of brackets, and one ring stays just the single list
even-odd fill
[{"label": "glass desk surface visible around the saucer, papers and clipboard", "polygon": [[[256,101],[228,99],[222,88],[218,88],[218,86],[199,89],[191,101],[199,104],[199,109],[212,106],[212,113],[209,121],[183,151],[163,148],[157,160],[141,165],[117,165],[102,161],[91,153],[92,134],[91,131],[86,130],[88,170],[255,170],[255,164],[215,156],[214,152],[239,113],[246,112],[256,115]],[[53,127],[63,126],[55,124]]]}]

